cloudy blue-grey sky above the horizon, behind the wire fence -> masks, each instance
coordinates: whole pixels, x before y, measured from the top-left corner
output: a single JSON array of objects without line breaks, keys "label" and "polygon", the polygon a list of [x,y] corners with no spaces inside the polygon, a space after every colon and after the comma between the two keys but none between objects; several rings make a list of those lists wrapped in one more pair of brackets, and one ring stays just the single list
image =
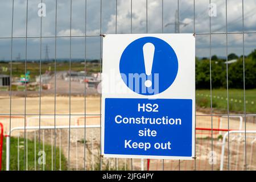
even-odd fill
[{"label": "cloudy blue-grey sky above the horizon, behind the wire fence", "polygon": [[[38,4],[41,0],[14,0],[13,36],[40,36],[40,16]],[[115,5],[117,2],[117,12]],[[162,6],[163,2],[163,6]],[[210,32],[209,0],[195,0],[195,30],[196,33]],[[226,14],[228,32],[241,32],[242,27],[242,0],[212,0],[216,5],[216,16],[211,18],[212,32],[226,31]],[[70,26],[72,35],[95,35],[72,38],[71,57],[86,59],[100,58],[100,32],[102,34],[130,34],[131,33],[131,0],[57,0],[57,21],[55,21],[56,0],[43,0],[46,4],[46,16],[42,17],[42,36],[69,36]],[[177,0],[148,0],[146,17],[146,0],[132,1],[132,32],[133,34],[175,32],[175,13]],[[162,9],[163,7],[163,9]],[[102,9],[102,11],[101,11]],[[256,1],[244,0],[244,31],[256,31]],[[163,22],[162,22],[163,10]],[[116,17],[117,13],[117,17]],[[86,15],[86,16],[85,16]],[[193,1],[179,0],[180,33],[193,33]],[[85,24],[86,17],[86,24]],[[0,60],[10,60],[11,57],[11,22],[12,0],[0,1]],[[117,23],[115,19],[117,18]],[[72,21],[71,21],[72,20]],[[166,24],[168,24],[166,26]],[[115,26],[117,24],[117,27]],[[86,25],[86,26],[85,26]],[[146,26],[147,25],[147,26]],[[146,28],[148,27],[148,28]],[[100,31],[101,30],[101,31]],[[242,55],[242,34],[228,35],[228,53]],[[57,59],[69,59],[69,38],[57,38]],[[86,51],[85,51],[86,42]],[[212,55],[226,56],[226,35],[212,35]],[[49,58],[55,57],[55,38],[42,38],[42,59],[46,57],[46,45]],[[196,35],[196,56],[209,57],[210,36]],[[256,48],[256,34],[245,34],[245,55]],[[20,59],[26,55],[26,39],[13,39],[13,59],[20,54]],[[27,59],[39,59],[40,39],[27,39]]]}]

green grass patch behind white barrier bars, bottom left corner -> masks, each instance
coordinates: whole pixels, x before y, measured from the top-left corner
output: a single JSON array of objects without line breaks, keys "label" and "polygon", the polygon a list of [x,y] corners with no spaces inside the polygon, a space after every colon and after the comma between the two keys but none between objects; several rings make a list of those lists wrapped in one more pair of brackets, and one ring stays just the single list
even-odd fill
[{"label": "green grass patch behind white barrier bars, bottom left corner", "polygon": [[[10,139],[10,170],[18,170],[18,138],[11,137]],[[35,143],[34,140],[27,140],[27,169],[35,170]],[[19,138],[19,170],[26,169],[26,164],[24,165],[24,138]],[[43,149],[43,144],[40,144],[40,150]],[[39,144],[36,143],[36,170],[39,170],[38,159],[42,155],[38,155]],[[44,170],[49,171],[52,169],[52,148],[49,144],[44,144],[44,151],[46,152],[46,164],[44,165]],[[59,159],[61,155],[61,170],[67,170],[67,160],[63,154],[60,154],[59,147],[56,147],[56,170],[59,170]],[[24,168],[25,166],[25,168]],[[54,146],[53,146],[53,169],[54,169]],[[3,156],[2,156],[2,170],[6,170],[6,139],[3,140]],[[40,164],[40,170],[43,170],[43,164]]]}]

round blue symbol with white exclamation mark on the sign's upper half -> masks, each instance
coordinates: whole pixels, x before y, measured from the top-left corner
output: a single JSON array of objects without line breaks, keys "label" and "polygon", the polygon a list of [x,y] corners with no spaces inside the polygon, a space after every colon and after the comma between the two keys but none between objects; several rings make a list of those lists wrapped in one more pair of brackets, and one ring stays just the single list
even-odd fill
[{"label": "round blue symbol with white exclamation mark on the sign's upper half", "polygon": [[139,38],[123,51],[119,71],[133,92],[155,95],[164,92],[174,82],[178,71],[177,56],[162,39]]}]

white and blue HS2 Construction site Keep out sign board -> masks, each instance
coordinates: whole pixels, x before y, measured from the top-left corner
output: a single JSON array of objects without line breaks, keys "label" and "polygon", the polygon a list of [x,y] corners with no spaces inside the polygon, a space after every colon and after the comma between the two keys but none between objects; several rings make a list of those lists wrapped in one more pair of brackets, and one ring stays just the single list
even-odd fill
[{"label": "white and blue HS2 Construction site Keep out sign board", "polygon": [[102,55],[102,155],[195,156],[195,37],[105,35]]}]

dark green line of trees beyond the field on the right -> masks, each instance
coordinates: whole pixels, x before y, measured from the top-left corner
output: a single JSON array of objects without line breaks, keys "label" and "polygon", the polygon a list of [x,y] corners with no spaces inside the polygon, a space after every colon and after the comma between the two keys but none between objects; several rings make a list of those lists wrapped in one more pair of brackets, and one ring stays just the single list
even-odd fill
[{"label": "dark green line of trees beyond the field on the right", "polygon": [[[237,60],[228,64],[229,88],[243,89],[243,83],[245,83],[246,89],[256,88],[256,49],[245,56],[245,82],[243,82],[243,56],[238,57],[236,54],[230,53],[228,60]],[[212,88],[226,88],[226,59],[219,59],[216,55],[213,55],[211,59],[196,57],[196,88],[210,88],[210,66]]]}]

